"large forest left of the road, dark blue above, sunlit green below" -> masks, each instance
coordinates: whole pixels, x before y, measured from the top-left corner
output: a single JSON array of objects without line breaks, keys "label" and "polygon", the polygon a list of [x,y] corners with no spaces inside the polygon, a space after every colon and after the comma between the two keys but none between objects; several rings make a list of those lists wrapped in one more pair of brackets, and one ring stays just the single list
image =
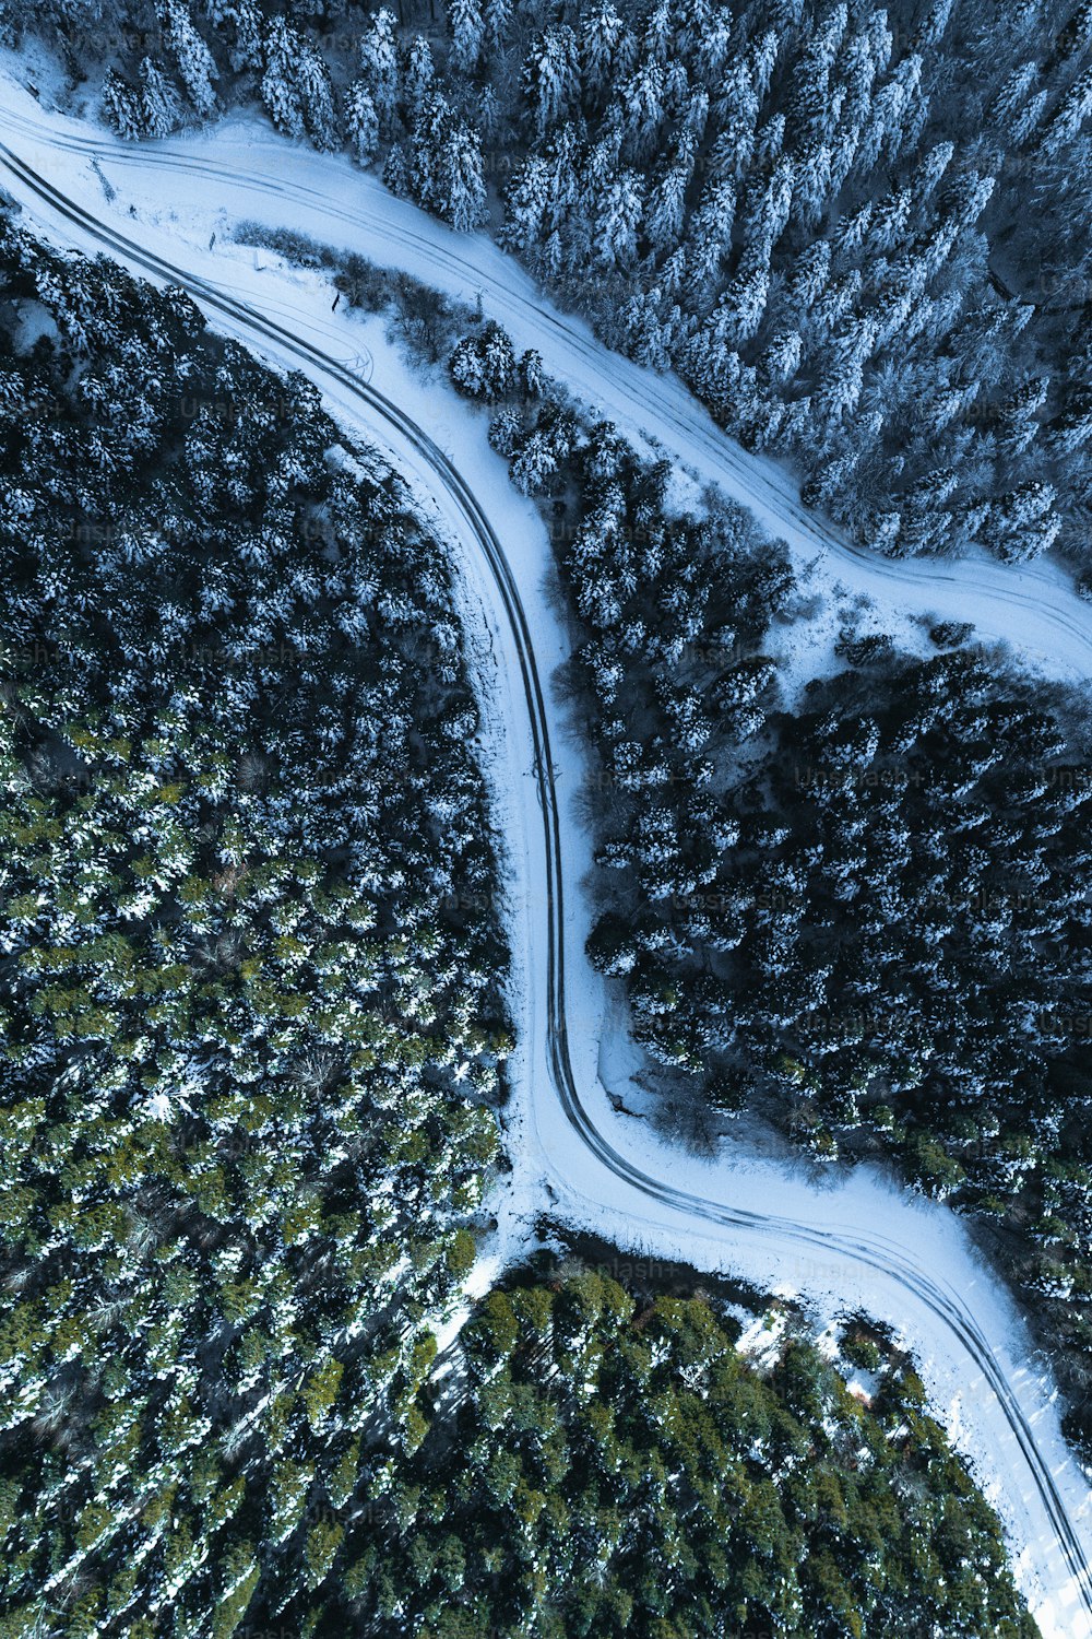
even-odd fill
[{"label": "large forest left of the road, dark blue above, sunlit green below", "polygon": [[301,379],[0,218],[3,1632],[229,1634],[422,1437],[506,947],[442,554]]}]

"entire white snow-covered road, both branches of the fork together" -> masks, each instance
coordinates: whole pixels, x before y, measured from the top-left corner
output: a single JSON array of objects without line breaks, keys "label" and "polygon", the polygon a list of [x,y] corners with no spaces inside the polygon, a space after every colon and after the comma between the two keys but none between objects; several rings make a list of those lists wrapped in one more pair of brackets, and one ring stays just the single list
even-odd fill
[{"label": "entire white snow-covered road, both branches of the fork together", "polygon": [[[218,329],[280,365],[306,370],[337,420],[390,456],[452,539],[468,623],[478,647],[493,651],[485,679],[486,744],[498,820],[509,839],[521,1013],[516,1205],[545,1206],[550,1183],[565,1218],[634,1247],[635,1255],[681,1255],[802,1293],[820,1314],[863,1308],[894,1324],[915,1349],[938,1414],[1005,1519],[1017,1575],[1043,1632],[1092,1636],[1089,1488],[1061,1437],[1049,1375],[1031,1357],[1018,1316],[959,1223],[943,1208],[905,1200],[864,1170],[845,1185],[819,1190],[791,1167],[740,1160],[735,1152],[697,1162],[612,1110],[599,1074],[606,995],[583,956],[589,906],[580,885],[591,854],[573,808],[580,749],[548,688],[566,644],[545,585],[548,543],[537,511],[508,484],[481,425],[450,395],[409,375],[385,346],[380,325],[362,326],[331,313],[329,290],[313,277],[260,267],[237,247],[210,252],[206,218],[264,216],[352,243],[377,261],[409,266],[409,252],[395,254],[404,218],[406,233],[424,246],[413,254],[426,257],[411,270],[462,293],[485,288],[486,310],[504,320],[521,346],[539,346],[558,375],[607,406],[619,423],[658,434],[660,425],[673,421],[675,436],[660,434],[668,447],[678,444],[693,465],[732,488],[719,469],[727,461],[720,446],[732,451],[729,441],[709,425],[702,431],[701,411],[679,388],[645,372],[637,377],[648,384],[640,388],[648,403],[642,406],[639,397],[624,416],[619,406],[630,392],[632,367],[598,349],[580,326],[550,315],[517,269],[503,279],[496,272],[512,310],[503,308],[480,274],[470,279],[458,270],[468,266],[467,257],[473,267],[481,259],[483,267],[509,269],[485,241],[447,236],[336,161],[321,161],[313,172],[311,156],[267,136],[254,143],[247,136],[246,152],[236,151],[232,144],[244,141],[237,129],[223,148],[219,139],[192,139],[188,159],[180,144],[118,149],[105,136],[88,136],[87,128],[46,120],[15,87],[3,87],[3,102],[0,182],[47,238],[105,249],[160,284],[185,285]],[[103,197],[93,157],[116,188],[113,202]],[[188,170],[198,159],[214,170]],[[170,205],[164,161],[172,162]],[[303,187],[301,174],[313,175],[323,195],[305,211],[291,193]],[[175,175],[190,177],[185,187],[200,187],[203,197],[175,193]],[[136,218],[128,213],[131,202]],[[368,228],[373,207],[385,221],[377,229]],[[170,210],[178,215],[174,225],[164,220]],[[329,221],[344,216],[342,231],[336,234],[323,213]],[[367,243],[372,231],[380,238]],[[450,266],[442,279],[445,256]],[[555,325],[562,326],[557,334]],[[362,382],[354,369],[362,346],[377,361],[372,382]],[[666,395],[660,405],[653,403],[658,385]],[[679,398],[678,416],[666,408],[671,395]],[[745,467],[751,462],[737,454]],[[809,556],[817,541],[830,556],[845,554],[840,574],[855,587],[864,585],[864,574],[876,574],[886,587],[884,602],[902,600],[941,615],[966,611],[966,597],[979,592],[987,618],[997,621],[994,636],[1012,638],[1059,675],[1092,675],[1092,616],[1066,592],[1061,575],[1041,569],[1010,580],[1013,572],[999,565],[972,565],[969,574],[963,565],[945,565],[943,579],[933,582],[932,565],[861,565],[837,541],[815,533],[802,513],[792,526],[765,516],[763,508],[776,510],[778,485],[784,485],[776,469],[768,469],[769,488],[755,482],[758,516],[784,536],[797,529],[791,544]],[[751,500],[743,477],[738,485],[737,493]],[[1002,577],[995,588],[994,580],[982,580],[984,569]],[[979,626],[989,629],[977,605],[976,613]]]}]

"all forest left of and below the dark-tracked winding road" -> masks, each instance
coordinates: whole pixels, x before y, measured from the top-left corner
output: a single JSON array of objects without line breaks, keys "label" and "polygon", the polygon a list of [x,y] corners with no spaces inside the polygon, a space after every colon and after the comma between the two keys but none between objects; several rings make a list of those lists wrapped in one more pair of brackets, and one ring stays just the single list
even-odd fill
[{"label": "all forest left of and below the dark-tracked winding road", "polygon": [[468,1296],[512,1042],[442,552],[182,292],[10,211],[0,270],[3,1639],[1035,1639],[868,1324]]}]

